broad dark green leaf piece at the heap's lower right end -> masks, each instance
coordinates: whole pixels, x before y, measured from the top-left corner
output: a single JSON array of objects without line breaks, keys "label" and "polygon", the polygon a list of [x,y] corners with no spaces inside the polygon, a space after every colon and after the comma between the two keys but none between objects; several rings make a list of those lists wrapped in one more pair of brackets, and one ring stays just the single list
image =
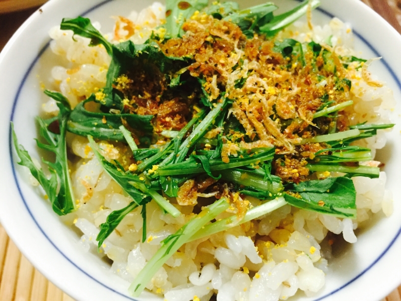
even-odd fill
[{"label": "broad dark green leaf piece at the heap's lower right end", "polygon": [[[344,177],[301,182],[284,194],[294,207],[343,218],[356,218],[356,191],[352,180]],[[299,196],[299,197],[298,197]]]}]

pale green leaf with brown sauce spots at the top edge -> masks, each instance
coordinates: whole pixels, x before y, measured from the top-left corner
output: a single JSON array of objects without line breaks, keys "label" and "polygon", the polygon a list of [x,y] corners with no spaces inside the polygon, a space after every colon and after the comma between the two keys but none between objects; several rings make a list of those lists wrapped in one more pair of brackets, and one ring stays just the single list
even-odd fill
[{"label": "pale green leaf with brown sauce spots at the top edge", "polygon": [[167,0],[166,1],[166,35],[170,38],[182,36],[182,24],[196,11],[208,6],[208,0]]}]

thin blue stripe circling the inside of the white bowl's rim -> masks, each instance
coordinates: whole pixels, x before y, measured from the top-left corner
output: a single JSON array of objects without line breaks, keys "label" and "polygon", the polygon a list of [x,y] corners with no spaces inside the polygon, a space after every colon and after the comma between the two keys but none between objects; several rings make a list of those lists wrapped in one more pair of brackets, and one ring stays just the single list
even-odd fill
[{"label": "thin blue stripe circling the inside of the white bowl's rim", "polygon": [[[85,11],[83,14],[81,14],[80,16],[86,16],[87,14],[91,13],[92,11],[102,7],[103,5],[111,2],[113,0],[105,0],[103,2],[101,2],[100,4],[97,4],[96,6],[90,8],[89,10]],[[323,13],[324,15],[333,18],[334,15],[330,14],[329,12],[318,8],[318,11],[320,11],[321,13]],[[363,37],[361,36],[358,32],[353,30],[353,34],[355,36],[357,36],[377,57],[380,57],[379,53],[377,52],[377,50]],[[10,121],[13,121],[14,119],[14,113],[16,110],[16,106],[17,106],[17,102],[21,93],[21,90],[28,78],[28,76],[30,75],[32,69],[34,68],[35,64],[38,62],[38,60],[40,59],[40,57],[43,55],[43,53],[47,50],[47,48],[49,47],[50,42],[48,42],[39,52],[38,56],[34,59],[34,61],[31,63],[30,67],[28,68],[27,72],[25,73],[21,84],[18,88],[17,94],[14,98],[14,103],[13,103],[13,107],[12,107],[12,112],[11,112],[11,116],[10,116]],[[388,63],[382,58],[380,60],[380,62],[384,65],[384,67],[387,69],[387,71],[390,73],[392,79],[396,82],[399,90],[401,90],[401,81],[398,79],[398,77],[396,76],[396,74],[394,73],[394,71],[391,69],[391,67],[388,65]],[[33,221],[35,222],[35,224],[38,226],[39,230],[43,233],[43,235],[46,237],[46,239],[54,246],[54,248],[64,257],[66,258],[73,266],[75,266],[78,270],[80,270],[81,272],[83,272],[85,275],[87,275],[89,278],[91,278],[92,280],[94,280],[95,282],[99,283],[100,285],[102,285],[103,287],[119,294],[120,296],[123,296],[129,300],[133,300],[133,301],[138,301],[137,299],[134,299],[130,296],[127,296],[125,294],[122,294],[118,291],[116,291],[115,289],[107,286],[106,284],[102,283],[101,281],[97,280],[95,277],[91,276],[88,272],[84,271],[82,268],[80,268],[77,264],[75,264],[66,254],[64,254],[56,245],[55,243],[47,236],[47,234],[45,233],[45,231],[41,228],[41,226],[39,225],[38,221],[35,219],[35,217],[33,216],[30,208],[28,207],[28,204],[22,194],[18,179],[17,179],[17,173],[14,167],[14,159],[13,159],[13,143],[12,143],[12,132],[11,132],[11,127],[9,130],[9,150],[10,150],[10,163],[11,163],[11,167],[13,170],[13,176],[14,176],[14,180],[16,182],[17,188],[18,188],[18,192],[20,193],[20,196],[22,198],[22,201],[25,205],[25,207],[27,208],[27,211],[29,212],[29,215],[32,217]],[[340,291],[342,288],[348,286],[349,284],[351,284],[352,282],[354,282],[356,279],[358,279],[360,276],[362,276],[366,271],[368,271],[373,265],[375,265],[382,257],[383,255],[389,250],[389,248],[393,245],[393,243],[395,242],[395,240],[399,237],[399,235],[401,234],[401,228],[398,229],[396,235],[394,236],[394,238],[391,240],[391,242],[388,244],[388,246],[384,249],[384,251],[369,265],[367,266],[363,271],[361,271],[358,275],[356,275],[354,278],[352,278],[351,280],[349,280],[348,282],[346,282],[345,284],[343,284],[342,286],[338,287],[337,289],[327,293],[326,295],[323,295],[317,299],[315,299],[314,301],[320,301],[330,295],[333,295],[334,293]]]}]

